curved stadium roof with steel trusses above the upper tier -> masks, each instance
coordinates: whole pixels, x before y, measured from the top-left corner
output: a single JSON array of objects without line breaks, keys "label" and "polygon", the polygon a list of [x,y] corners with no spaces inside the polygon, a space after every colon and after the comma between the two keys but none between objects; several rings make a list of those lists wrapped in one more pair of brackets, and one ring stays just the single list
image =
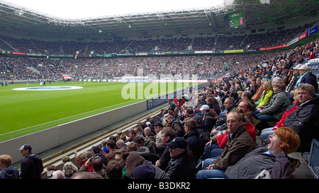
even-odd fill
[{"label": "curved stadium roof with steel trusses above the upper tier", "polygon": [[0,31],[30,36],[128,37],[224,31],[224,17],[242,11],[247,28],[265,23],[284,25],[302,16],[318,18],[317,0],[225,0],[219,6],[172,11],[125,13],[95,18],[58,18],[0,1]]}]

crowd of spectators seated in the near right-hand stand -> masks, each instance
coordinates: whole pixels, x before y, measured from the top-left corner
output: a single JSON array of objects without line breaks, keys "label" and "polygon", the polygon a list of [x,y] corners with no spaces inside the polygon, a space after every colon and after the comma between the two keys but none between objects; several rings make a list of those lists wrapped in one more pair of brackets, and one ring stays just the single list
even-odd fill
[{"label": "crowd of spectators seated in the near right-hand stand", "polygon": [[[256,58],[259,64],[242,69],[231,63],[229,75],[211,81],[192,98],[169,99],[169,107],[159,115],[138,123],[127,135],[119,131],[91,151],[79,153],[75,163],[65,157],[62,170],[47,168],[47,178],[289,178],[300,162],[289,154],[309,152],[312,139],[319,140],[318,83],[306,64],[312,59],[307,56],[310,52],[318,57],[318,45],[319,39],[289,51],[232,56],[239,62]],[[303,63],[298,62],[299,55],[305,57]],[[204,64],[216,64],[225,57],[147,57],[138,62],[153,69],[155,64],[144,62],[201,59]],[[12,60],[17,59],[4,61]],[[65,59],[66,69],[74,67],[72,60]],[[117,65],[113,60],[108,64]],[[96,61],[86,61],[90,66],[88,62]],[[104,59],[99,63],[105,64]],[[172,73],[171,66],[164,72]],[[198,69],[192,70],[199,74]],[[256,138],[259,134],[261,139]],[[30,149],[24,145],[18,151],[25,156]],[[40,158],[33,156],[40,165]],[[35,167],[30,160],[28,165]],[[9,155],[0,156],[0,167],[0,177],[18,178]]]}]

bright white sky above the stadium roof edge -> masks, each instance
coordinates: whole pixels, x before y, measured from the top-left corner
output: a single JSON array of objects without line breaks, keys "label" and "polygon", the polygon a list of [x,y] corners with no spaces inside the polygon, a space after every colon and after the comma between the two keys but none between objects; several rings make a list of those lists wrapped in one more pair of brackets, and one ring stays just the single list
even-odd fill
[{"label": "bright white sky above the stadium roof edge", "polygon": [[172,11],[186,8],[206,8],[223,4],[223,0],[4,0],[34,11],[59,18],[91,18],[128,13]]}]

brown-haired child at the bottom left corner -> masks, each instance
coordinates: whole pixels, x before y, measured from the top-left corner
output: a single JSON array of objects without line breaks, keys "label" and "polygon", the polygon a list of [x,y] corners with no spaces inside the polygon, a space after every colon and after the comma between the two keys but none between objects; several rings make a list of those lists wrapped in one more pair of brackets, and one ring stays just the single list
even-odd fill
[{"label": "brown-haired child at the bottom left corner", "polygon": [[9,155],[0,156],[0,179],[19,179],[18,168],[11,165],[12,158]]}]

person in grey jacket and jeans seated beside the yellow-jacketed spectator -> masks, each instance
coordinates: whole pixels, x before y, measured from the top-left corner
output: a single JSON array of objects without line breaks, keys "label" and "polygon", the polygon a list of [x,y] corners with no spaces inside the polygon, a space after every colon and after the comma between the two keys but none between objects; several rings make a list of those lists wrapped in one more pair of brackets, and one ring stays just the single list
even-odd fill
[{"label": "person in grey jacket and jeans seated beside the yellow-jacketed spectator", "polygon": [[256,127],[259,131],[268,127],[273,127],[274,125],[269,125],[269,121],[278,122],[286,108],[289,107],[290,100],[286,95],[285,88],[286,84],[284,82],[274,83],[274,95],[272,95],[269,103],[264,105],[264,107],[259,107],[257,109],[258,114],[256,116],[260,122]]}]

